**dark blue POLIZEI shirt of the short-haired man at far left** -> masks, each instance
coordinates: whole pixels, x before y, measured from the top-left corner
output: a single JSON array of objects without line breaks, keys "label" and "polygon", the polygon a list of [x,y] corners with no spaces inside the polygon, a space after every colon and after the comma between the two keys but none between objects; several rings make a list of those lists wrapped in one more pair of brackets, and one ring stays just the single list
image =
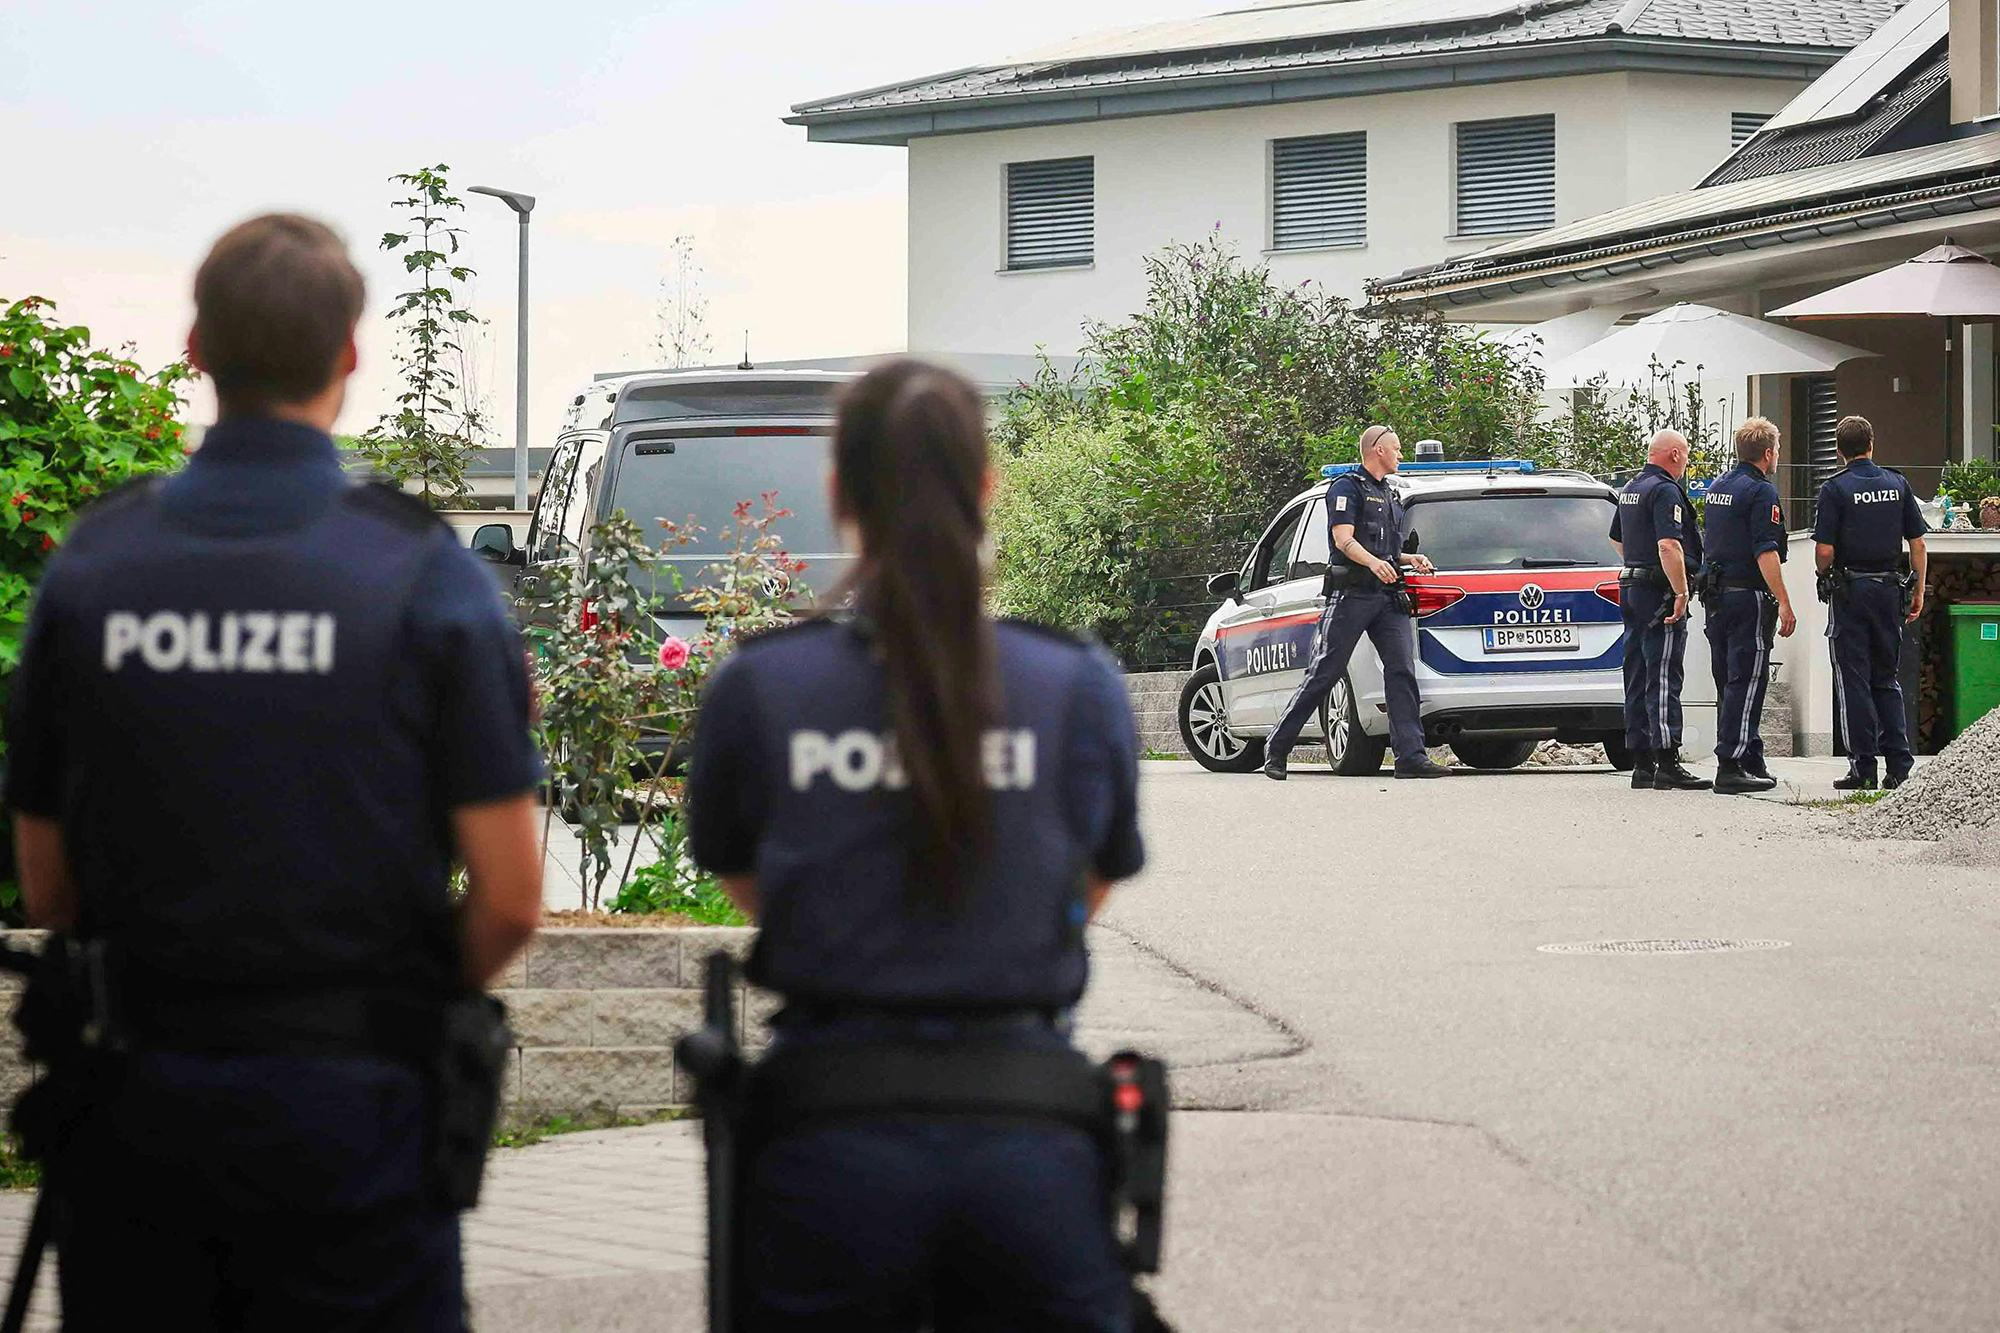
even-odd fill
[{"label": "dark blue POLIZEI shirt of the short-haired man at far left", "polygon": [[450,811],[532,791],[520,632],[332,438],[230,420],[48,564],[6,803],[56,819],[82,929],[216,985],[458,985]]}]

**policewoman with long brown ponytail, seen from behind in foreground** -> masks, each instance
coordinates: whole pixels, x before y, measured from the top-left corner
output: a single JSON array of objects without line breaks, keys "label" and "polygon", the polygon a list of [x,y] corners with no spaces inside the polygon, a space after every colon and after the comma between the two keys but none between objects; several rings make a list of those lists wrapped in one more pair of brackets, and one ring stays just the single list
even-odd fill
[{"label": "policewoman with long brown ponytail, seen from behind in foreground", "polygon": [[[834,428],[852,610],[742,644],[708,687],[690,839],[784,997],[760,1073],[802,1051],[1068,1053],[1084,923],[1144,861],[1116,669],[984,614],[992,484],[970,384],[872,370]],[[750,1329],[1130,1327],[1084,1129],[850,1115],[776,1133],[744,1181]]]}]

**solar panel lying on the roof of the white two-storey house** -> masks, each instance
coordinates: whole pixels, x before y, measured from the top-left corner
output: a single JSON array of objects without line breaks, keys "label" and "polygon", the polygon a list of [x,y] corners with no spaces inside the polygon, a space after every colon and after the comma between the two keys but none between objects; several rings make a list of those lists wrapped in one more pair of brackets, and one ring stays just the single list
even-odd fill
[{"label": "solar panel lying on the roof of the white two-storey house", "polygon": [[1292,38],[1420,28],[1444,22],[1474,22],[1524,10],[1560,8],[1524,0],[1320,0],[1318,4],[1260,4],[1248,10],[1186,18],[1142,28],[1116,28],[1074,38],[1018,56],[1004,64],[1050,64],[1064,60],[1106,60],[1210,46],[1246,46]]}]

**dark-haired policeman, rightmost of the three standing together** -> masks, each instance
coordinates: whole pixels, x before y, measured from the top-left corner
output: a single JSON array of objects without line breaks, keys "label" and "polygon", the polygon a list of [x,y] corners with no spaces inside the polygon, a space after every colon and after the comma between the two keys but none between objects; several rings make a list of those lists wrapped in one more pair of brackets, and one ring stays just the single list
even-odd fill
[{"label": "dark-haired policeman, rightmost of the three standing together", "polygon": [[[1834,650],[1834,713],[1848,743],[1840,791],[1870,791],[1876,761],[1882,787],[1902,787],[1916,763],[1902,709],[1902,626],[1924,614],[1924,514],[1902,472],[1876,466],[1874,426],[1846,416],[1834,428],[1846,470],[1820,486],[1812,526],[1820,596],[1828,602],[1826,636]],[[1902,544],[1910,542],[1910,576]]]}]

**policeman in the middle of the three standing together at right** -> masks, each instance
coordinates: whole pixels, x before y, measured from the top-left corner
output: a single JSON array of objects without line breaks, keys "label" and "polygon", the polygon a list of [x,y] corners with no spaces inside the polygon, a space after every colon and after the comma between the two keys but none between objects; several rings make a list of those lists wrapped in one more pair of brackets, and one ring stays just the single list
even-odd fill
[{"label": "policeman in the middle of the three standing together at right", "polygon": [[1708,654],[1716,677],[1716,791],[1742,795],[1778,785],[1764,769],[1764,687],[1770,650],[1798,628],[1784,590],[1784,508],[1772,474],[1778,426],[1752,416],[1736,428],[1736,466],[1702,500],[1708,570]]}]

